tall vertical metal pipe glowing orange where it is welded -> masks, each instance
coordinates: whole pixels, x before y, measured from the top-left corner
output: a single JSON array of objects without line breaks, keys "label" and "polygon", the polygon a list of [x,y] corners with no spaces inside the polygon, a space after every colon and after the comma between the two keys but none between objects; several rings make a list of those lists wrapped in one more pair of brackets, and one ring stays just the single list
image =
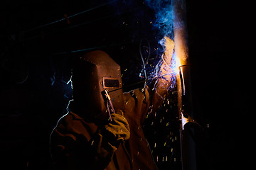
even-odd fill
[{"label": "tall vertical metal pipe glowing orange where it is welded", "polygon": [[188,123],[193,121],[191,118],[192,110],[189,104],[191,99],[191,77],[188,62],[188,34],[186,27],[186,2],[185,0],[172,0],[173,24],[174,24],[174,50],[176,60],[179,60],[181,67],[177,73],[178,89],[178,112],[181,118],[181,157],[183,170],[196,170],[196,148],[193,141],[193,129],[189,128]]}]

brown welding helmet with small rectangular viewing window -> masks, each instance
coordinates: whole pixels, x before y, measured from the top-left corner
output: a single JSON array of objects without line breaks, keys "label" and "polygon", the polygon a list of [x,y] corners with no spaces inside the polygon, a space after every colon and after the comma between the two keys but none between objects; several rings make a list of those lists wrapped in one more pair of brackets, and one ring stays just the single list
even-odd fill
[{"label": "brown welding helmet with small rectangular viewing window", "polygon": [[75,111],[82,118],[109,118],[102,96],[105,90],[109,92],[114,110],[124,109],[120,66],[106,52],[87,52],[75,59],[72,86]]}]

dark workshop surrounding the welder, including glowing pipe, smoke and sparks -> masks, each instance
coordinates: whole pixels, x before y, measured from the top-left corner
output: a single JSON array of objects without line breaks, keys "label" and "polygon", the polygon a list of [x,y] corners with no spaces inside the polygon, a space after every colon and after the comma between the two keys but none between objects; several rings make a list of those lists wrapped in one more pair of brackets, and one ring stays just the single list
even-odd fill
[{"label": "dark workshop surrounding the welder, including glowing pipe, smoke and sparks", "polygon": [[[255,165],[252,2],[11,0],[0,8],[0,169],[50,169],[73,62],[96,50],[119,64],[124,92],[154,90],[169,75],[168,95],[142,127],[159,170]],[[170,68],[159,74],[169,42]]]}]

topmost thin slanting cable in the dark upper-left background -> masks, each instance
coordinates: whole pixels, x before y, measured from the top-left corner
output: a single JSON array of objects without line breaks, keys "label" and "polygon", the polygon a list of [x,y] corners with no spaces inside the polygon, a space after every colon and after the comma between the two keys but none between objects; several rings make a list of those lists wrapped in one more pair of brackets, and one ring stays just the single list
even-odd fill
[{"label": "topmost thin slanting cable in the dark upper-left background", "polygon": [[[94,10],[94,9],[100,8],[100,7],[102,7],[102,6],[105,6],[105,5],[107,5],[107,4],[111,4],[111,3],[114,2],[114,1],[117,1],[117,0],[113,0],[113,1],[106,2],[105,4],[101,4],[101,5],[99,5],[99,6],[95,6],[95,7],[89,8],[89,9],[87,9],[87,10],[85,10],[85,11],[80,12],[80,13],[75,13],[75,14],[73,14],[72,16],[68,16],[67,18],[72,18],[72,17],[74,17],[74,16],[79,16],[79,15],[81,15],[82,13],[86,13],[86,12],[92,11],[92,10]],[[37,29],[40,29],[40,28],[44,28],[44,27],[46,27],[46,26],[50,26],[50,25],[53,25],[54,23],[58,23],[58,22],[60,22],[60,21],[65,21],[65,20],[66,20],[66,18],[61,18],[61,19],[59,19],[59,20],[57,20],[57,21],[53,21],[53,22],[51,22],[51,23],[46,23],[46,24],[44,24],[43,26],[38,26],[38,27],[36,27],[36,28],[32,28],[32,29],[30,29],[30,30],[27,30],[27,31],[25,31],[25,33],[28,33],[28,32],[31,32],[31,31],[33,31],[33,30],[37,30]]]}]

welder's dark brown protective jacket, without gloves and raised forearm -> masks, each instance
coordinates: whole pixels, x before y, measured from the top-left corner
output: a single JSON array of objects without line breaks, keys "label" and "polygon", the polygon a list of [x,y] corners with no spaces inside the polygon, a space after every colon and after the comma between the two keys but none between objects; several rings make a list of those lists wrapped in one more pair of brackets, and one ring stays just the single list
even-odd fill
[{"label": "welder's dark brown protective jacket, without gloves and raised forearm", "polygon": [[113,142],[100,125],[71,110],[58,121],[50,137],[55,169],[157,169],[142,125],[149,110],[149,92],[124,93],[124,117],[129,140]]}]

